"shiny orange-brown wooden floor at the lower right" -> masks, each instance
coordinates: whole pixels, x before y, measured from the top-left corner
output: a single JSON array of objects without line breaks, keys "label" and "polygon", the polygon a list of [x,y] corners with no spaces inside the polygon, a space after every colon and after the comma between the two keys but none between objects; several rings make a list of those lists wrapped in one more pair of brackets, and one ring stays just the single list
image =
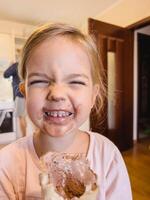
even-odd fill
[{"label": "shiny orange-brown wooden floor at the lower right", "polygon": [[130,176],[133,200],[150,200],[150,139],[123,153]]}]

